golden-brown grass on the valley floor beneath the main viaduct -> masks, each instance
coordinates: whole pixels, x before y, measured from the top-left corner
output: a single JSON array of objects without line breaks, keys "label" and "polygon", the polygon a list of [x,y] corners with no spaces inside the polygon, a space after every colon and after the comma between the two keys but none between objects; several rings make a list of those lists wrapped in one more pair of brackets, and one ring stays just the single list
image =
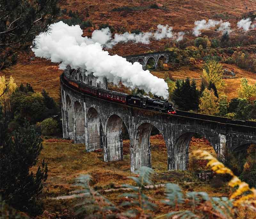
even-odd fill
[{"label": "golden-brown grass on the valley floor beneath the main viaduct", "polygon": [[[69,142],[47,142],[44,140],[43,150],[39,156],[39,162],[45,159],[48,165],[47,187],[43,194],[44,209],[49,212],[63,213],[68,209],[74,212],[74,207],[81,199],[54,200],[50,197],[68,195],[71,191],[77,189],[73,184],[74,179],[80,174],[89,174],[92,176],[92,186],[97,189],[109,189],[110,187],[121,186],[122,184],[134,184],[127,178],[131,176],[130,172],[130,150],[129,140],[124,140],[124,160],[116,162],[104,162],[102,151],[90,152],[85,151],[85,145],[72,144]],[[51,141],[51,140],[50,140]],[[220,189],[214,189],[209,183],[201,182],[194,178],[189,171],[169,171],[167,172],[167,149],[164,139],[161,135],[151,136],[151,154],[152,168],[155,170],[153,177],[154,184],[177,183],[184,191],[204,191],[210,196],[228,195],[229,190],[226,186]],[[190,152],[198,148],[204,148],[209,152],[212,146],[205,139],[192,138]],[[36,171],[33,167],[33,172]],[[192,184],[186,184],[192,182]],[[72,185],[73,184],[73,185]],[[102,194],[115,204],[120,204],[123,200],[118,197],[121,191],[102,192]],[[164,188],[148,190],[146,192],[154,198],[154,202],[159,205],[159,211],[155,215],[167,213],[170,208],[165,206],[159,200],[164,199]]]}]

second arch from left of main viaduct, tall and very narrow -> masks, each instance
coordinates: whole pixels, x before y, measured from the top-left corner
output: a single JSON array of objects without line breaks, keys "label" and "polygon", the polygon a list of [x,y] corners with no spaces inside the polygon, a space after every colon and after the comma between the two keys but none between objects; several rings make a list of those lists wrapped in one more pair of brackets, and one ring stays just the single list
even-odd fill
[{"label": "second arch from left of main viaduct, tall and very narrow", "polygon": [[84,136],[85,133],[85,120],[84,120],[84,110],[83,106],[76,101],[74,105],[75,112],[75,133],[76,133],[76,143],[83,142],[81,137]]}]

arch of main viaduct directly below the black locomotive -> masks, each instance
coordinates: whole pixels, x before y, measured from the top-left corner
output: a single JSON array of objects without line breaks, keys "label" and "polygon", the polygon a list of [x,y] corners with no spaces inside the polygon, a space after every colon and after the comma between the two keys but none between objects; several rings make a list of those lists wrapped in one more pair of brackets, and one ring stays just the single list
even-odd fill
[{"label": "arch of main viaduct directly below the black locomotive", "polygon": [[[149,122],[143,122],[137,128],[134,139],[135,169],[140,168],[142,166],[151,167],[150,133],[153,127],[156,126]],[[156,129],[158,128],[156,127]],[[159,129],[158,131],[159,133],[161,133]]]}]

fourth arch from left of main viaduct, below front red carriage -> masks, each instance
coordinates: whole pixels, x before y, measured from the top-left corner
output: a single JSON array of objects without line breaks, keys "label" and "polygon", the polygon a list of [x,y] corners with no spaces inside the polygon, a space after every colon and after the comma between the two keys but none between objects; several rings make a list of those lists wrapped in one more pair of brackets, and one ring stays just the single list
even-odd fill
[{"label": "fourth arch from left of main viaduct, below front red carriage", "polygon": [[108,117],[106,126],[106,148],[108,161],[123,160],[122,124],[123,120],[120,116],[112,114]]}]

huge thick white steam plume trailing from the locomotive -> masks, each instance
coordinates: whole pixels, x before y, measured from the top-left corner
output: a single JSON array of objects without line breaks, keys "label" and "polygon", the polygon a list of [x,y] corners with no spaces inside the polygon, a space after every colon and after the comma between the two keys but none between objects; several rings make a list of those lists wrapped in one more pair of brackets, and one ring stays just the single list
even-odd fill
[{"label": "huge thick white steam plume trailing from the locomotive", "polygon": [[[103,51],[101,43],[109,37],[100,38],[101,32],[95,32],[92,38],[82,37],[83,31],[79,25],[68,26],[62,21],[50,26],[50,33],[41,33],[35,43],[37,48],[32,49],[37,57],[51,59],[52,62],[61,62],[60,69],[70,65],[72,68],[82,68],[103,80],[118,84],[120,81],[132,89],[144,89],[157,96],[168,98],[168,85],[164,79],[144,71],[139,62],[133,64],[118,55],[110,56]],[[106,30],[107,31],[107,30]],[[107,34],[103,36],[108,36]],[[93,43],[94,42],[94,43]]]}]

